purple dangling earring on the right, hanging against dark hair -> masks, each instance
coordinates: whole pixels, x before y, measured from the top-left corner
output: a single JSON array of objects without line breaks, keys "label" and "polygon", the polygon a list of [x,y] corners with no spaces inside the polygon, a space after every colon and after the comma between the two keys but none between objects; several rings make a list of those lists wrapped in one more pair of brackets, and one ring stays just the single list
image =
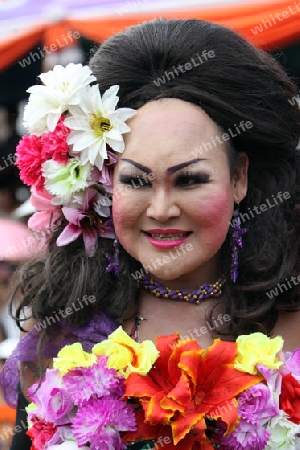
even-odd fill
[{"label": "purple dangling earring on the right, hanging against dark hair", "polygon": [[241,219],[239,216],[239,207],[233,211],[233,219],[231,220],[229,233],[230,233],[230,247],[231,247],[231,269],[230,269],[230,278],[234,283],[238,277],[238,251],[239,248],[242,248],[243,241],[242,237],[245,233],[247,233],[247,228],[242,228]]}]

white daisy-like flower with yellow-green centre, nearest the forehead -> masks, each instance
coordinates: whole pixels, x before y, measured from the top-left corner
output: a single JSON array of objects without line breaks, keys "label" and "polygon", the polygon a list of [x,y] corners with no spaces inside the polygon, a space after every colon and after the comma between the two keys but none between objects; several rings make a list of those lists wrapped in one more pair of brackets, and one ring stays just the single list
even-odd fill
[{"label": "white daisy-like flower with yellow-green centre, nearest the forehead", "polygon": [[70,107],[71,117],[65,120],[72,130],[67,138],[71,154],[99,170],[107,158],[107,144],[116,152],[124,151],[122,134],[130,131],[125,122],[136,113],[131,108],[115,109],[118,90],[119,86],[111,86],[101,97],[98,86],[86,87],[80,93],[80,103]]}]

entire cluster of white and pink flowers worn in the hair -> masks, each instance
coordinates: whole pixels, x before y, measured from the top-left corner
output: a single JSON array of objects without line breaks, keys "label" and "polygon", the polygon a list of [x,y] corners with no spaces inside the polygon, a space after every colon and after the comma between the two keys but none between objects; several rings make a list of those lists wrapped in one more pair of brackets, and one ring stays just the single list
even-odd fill
[{"label": "entire cluster of white and pink flowers worn in the hair", "polygon": [[63,246],[83,236],[93,256],[99,236],[115,237],[110,218],[112,167],[125,148],[123,134],[130,108],[116,109],[119,86],[101,96],[88,66],[54,66],[42,73],[43,85],[32,86],[24,111],[29,135],[17,146],[21,180],[31,186],[31,202],[38,210],[28,222],[41,231],[59,223],[68,225],[57,239]]}]

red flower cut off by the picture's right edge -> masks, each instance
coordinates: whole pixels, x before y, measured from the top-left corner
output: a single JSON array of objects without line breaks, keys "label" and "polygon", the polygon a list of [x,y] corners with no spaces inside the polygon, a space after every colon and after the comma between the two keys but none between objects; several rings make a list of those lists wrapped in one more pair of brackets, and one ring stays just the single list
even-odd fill
[{"label": "red flower cut off by the picture's right edge", "polygon": [[300,424],[300,383],[291,373],[282,377],[279,406],[290,416],[291,422]]}]

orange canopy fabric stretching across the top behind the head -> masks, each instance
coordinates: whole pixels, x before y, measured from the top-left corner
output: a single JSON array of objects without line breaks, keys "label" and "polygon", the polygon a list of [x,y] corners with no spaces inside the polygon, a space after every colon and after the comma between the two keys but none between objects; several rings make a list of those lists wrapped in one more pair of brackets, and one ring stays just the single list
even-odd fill
[{"label": "orange canopy fabric stretching across the top behind the head", "polygon": [[239,2],[235,5],[194,6],[190,9],[181,7],[174,10],[161,9],[138,13],[131,11],[126,14],[102,14],[82,19],[73,15],[56,23],[44,22],[32,25],[30,29],[22,30],[21,34],[2,40],[0,69],[28,56],[30,49],[38,42],[43,42],[41,51],[44,52],[50,51],[51,45],[56,49],[72,45],[75,33],[77,38],[80,34],[92,41],[101,42],[128,26],[157,17],[210,20],[236,30],[255,45],[265,49],[284,47],[300,38],[300,0],[294,2],[265,0],[262,3],[252,4]]}]

